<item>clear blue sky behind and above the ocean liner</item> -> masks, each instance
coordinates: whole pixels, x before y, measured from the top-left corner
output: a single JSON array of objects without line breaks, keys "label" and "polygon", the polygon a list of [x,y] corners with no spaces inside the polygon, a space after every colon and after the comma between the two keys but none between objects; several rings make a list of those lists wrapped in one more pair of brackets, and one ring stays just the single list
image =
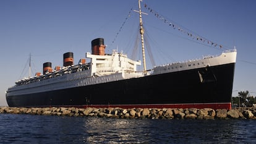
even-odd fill
[{"label": "clear blue sky behind and above the ocean liner", "polygon": [[[144,4],[153,11],[145,9]],[[249,90],[250,95],[255,96],[255,6],[254,0],[144,0],[142,10],[148,15],[143,15],[143,25],[155,63],[221,54],[224,49],[236,46],[233,96],[241,90]],[[0,1],[0,106],[7,105],[7,88],[28,76],[29,54],[32,55],[32,75],[42,72],[44,62],[52,62],[53,67],[62,66],[62,56],[69,51],[74,53],[77,64],[86,52],[91,51],[94,38],[105,38],[106,53],[118,49],[131,56],[139,15],[133,11],[129,15],[130,9],[138,9],[137,0]],[[223,48],[192,39],[185,32],[214,41]],[[141,59],[139,55],[135,60]],[[150,58],[147,56],[146,60],[150,69]]]}]

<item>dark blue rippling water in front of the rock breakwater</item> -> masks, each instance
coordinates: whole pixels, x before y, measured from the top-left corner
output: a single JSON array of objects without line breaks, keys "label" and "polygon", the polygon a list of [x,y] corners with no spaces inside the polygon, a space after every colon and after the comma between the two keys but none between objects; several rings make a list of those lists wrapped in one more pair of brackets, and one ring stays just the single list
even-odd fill
[{"label": "dark blue rippling water in front of the rock breakwater", "polygon": [[256,143],[256,120],[0,114],[0,143]]}]

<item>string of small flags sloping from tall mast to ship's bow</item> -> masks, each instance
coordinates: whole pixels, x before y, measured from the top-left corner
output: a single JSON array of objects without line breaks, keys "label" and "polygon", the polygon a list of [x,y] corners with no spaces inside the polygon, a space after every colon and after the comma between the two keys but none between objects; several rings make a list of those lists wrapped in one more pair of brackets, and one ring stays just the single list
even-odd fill
[{"label": "string of small flags sloping from tall mast to ship's bow", "polygon": [[200,41],[201,43],[208,44],[210,46],[213,46],[215,48],[223,48],[223,45],[217,44],[211,40],[208,40],[207,38],[203,38],[203,36],[197,35],[196,33],[193,33],[191,30],[188,30],[187,28],[181,27],[181,25],[177,24],[176,22],[173,22],[171,20],[168,20],[163,17],[163,15],[158,14],[158,12],[154,11],[150,7],[147,6],[147,4],[144,5],[144,8],[150,12],[151,14],[155,15],[157,19],[160,19],[164,23],[166,23],[170,28],[173,28],[174,30],[178,30],[181,33],[184,33],[185,35],[192,38],[192,40]]}]

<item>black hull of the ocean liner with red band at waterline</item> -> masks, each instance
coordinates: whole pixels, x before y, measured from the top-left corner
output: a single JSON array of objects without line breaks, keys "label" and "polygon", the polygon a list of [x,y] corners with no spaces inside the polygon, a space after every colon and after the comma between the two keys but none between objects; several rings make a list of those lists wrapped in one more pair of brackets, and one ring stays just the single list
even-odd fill
[{"label": "black hull of the ocean liner with red band at waterline", "polygon": [[85,87],[6,96],[11,107],[226,108],[235,64],[149,75]]}]

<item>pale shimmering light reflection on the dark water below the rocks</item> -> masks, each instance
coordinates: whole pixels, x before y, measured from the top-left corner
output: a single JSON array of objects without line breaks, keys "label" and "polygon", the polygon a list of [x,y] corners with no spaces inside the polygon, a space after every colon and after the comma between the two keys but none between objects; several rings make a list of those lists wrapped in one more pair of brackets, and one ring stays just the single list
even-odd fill
[{"label": "pale shimmering light reflection on the dark water below the rocks", "polygon": [[[147,121],[131,119],[107,119],[88,117],[85,119],[84,127],[88,137],[85,141],[88,143],[134,143],[139,142],[137,133],[142,133],[143,125]],[[138,125],[138,124],[139,125]]]}]

